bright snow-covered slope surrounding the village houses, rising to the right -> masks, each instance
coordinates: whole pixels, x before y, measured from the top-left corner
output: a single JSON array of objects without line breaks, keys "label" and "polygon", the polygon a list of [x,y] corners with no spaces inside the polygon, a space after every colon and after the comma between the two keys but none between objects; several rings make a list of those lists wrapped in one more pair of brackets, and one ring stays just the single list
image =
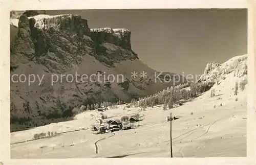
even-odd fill
[{"label": "bright snow-covered slope surrounding the village houses, rising to the right", "polygon": [[[210,79],[212,75],[215,79]],[[123,109],[125,105],[119,105],[103,112],[108,116],[105,120],[139,113],[143,120],[136,122],[137,128],[131,130],[93,134],[90,128],[99,114],[92,110],[76,115],[73,121],[13,132],[11,157],[169,157],[170,123],[165,122],[165,117],[170,112],[179,118],[172,122],[174,157],[244,157],[247,55],[234,57],[223,64],[208,63],[204,75],[195,84],[210,80],[215,80],[215,83],[207,91],[199,92],[200,88],[195,88],[195,85],[186,87],[189,94],[195,90],[198,95],[186,101],[183,98],[183,105],[170,109],[163,110],[163,105],[158,104],[141,111],[137,103],[131,108]],[[175,88],[165,89],[152,97],[161,99],[172,90]],[[186,98],[186,93],[184,96]],[[143,106],[146,106],[145,103]],[[72,132],[74,130],[77,131]],[[56,132],[56,135],[33,140],[34,134],[47,131]],[[18,143],[25,140],[31,141]]]}]

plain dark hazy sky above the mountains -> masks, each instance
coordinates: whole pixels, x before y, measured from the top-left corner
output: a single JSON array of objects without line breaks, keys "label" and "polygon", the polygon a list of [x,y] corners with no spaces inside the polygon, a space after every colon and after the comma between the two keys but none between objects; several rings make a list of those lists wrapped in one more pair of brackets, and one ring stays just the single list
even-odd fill
[{"label": "plain dark hazy sky above the mountains", "polygon": [[132,49],[162,72],[202,74],[206,63],[247,53],[247,9],[51,10],[79,14],[90,28],[126,28]]}]

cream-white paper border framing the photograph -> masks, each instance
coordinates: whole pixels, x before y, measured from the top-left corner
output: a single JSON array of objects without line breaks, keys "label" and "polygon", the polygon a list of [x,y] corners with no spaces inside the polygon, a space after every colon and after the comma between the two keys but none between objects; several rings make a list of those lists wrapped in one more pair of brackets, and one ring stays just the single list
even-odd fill
[{"label": "cream-white paper border framing the photograph", "polygon": [[[255,1],[7,1],[1,7],[1,108],[0,162],[3,164],[255,164]],[[12,10],[78,10],[78,9],[175,9],[175,8],[247,8],[248,9],[248,93],[247,93],[247,157],[215,158],[73,158],[11,159],[10,158],[10,11]],[[1,164],[1,163],[0,163]]]}]

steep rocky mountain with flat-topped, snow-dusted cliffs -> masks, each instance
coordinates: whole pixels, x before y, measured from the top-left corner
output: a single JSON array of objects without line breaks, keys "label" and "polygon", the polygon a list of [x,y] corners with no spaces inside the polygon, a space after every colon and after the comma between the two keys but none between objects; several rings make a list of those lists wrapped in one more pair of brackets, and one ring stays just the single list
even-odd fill
[{"label": "steep rocky mountain with flat-topped, snow-dusted cliffs", "polygon": [[[90,29],[79,15],[45,14],[11,13],[12,131],[69,120],[81,105],[93,109],[96,103],[129,102],[174,84],[155,81],[156,70],[132,50],[129,30]],[[133,72],[138,77],[131,77]],[[27,81],[18,81],[23,74]]]}]

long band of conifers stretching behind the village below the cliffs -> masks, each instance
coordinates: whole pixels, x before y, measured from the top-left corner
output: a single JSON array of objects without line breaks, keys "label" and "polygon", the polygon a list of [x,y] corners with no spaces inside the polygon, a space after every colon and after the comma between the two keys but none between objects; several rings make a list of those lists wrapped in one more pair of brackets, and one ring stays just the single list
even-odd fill
[{"label": "long band of conifers stretching behind the village below the cliffs", "polygon": [[[190,87],[190,90],[184,89],[186,87]],[[168,104],[169,108],[172,108],[173,107],[172,105],[194,98],[197,95],[199,95],[199,93],[209,90],[210,87],[211,87],[210,83],[205,83],[205,82],[191,83],[191,84],[185,83],[177,86],[171,86],[171,87],[167,87],[167,89],[159,91],[158,93],[155,93],[154,95],[150,95],[150,96],[139,98],[139,99],[132,98],[130,102],[130,106],[133,106],[133,107],[139,106],[141,108],[146,108],[146,107],[154,107],[156,105],[166,103]],[[92,100],[92,99],[87,99],[86,101],[84,101],[84,104],[79,109],[75,108],[73,113],[77,114],[85,110],[97,109],[101,106],[114,108],[116,105],[124,104],[124,101],[121,101],[121,100],[118,100],[116,103],[98,102],[96,104],[90,104],[88,100]]]}]

